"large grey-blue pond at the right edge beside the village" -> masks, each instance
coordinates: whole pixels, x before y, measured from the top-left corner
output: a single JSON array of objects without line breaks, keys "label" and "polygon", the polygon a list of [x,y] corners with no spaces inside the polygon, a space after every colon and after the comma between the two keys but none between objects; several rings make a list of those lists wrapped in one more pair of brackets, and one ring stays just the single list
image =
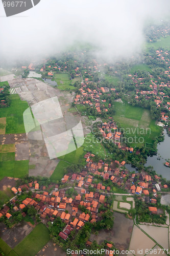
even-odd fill
[{"label": "large grey-blue pond at the right edge beside the village", "polygon": [[160,142],[157,146],[157,155],[148,157],[145,166],[152,165],[157,174],[170,180],[170,168],[164,166],[166,160],[170,159],[170,137],[167,135],[166,130],[164,130],[164,136],[164,141]]}]

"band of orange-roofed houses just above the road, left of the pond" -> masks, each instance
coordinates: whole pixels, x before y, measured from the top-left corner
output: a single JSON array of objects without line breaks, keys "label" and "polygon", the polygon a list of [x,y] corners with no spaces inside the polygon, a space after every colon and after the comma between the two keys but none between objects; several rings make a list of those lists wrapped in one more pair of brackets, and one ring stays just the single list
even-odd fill
[{"label": "band of orange-roofed houses just above the road, left of the pond", "polygon": [[[90,156],[91,153],[87,153],[84,156],[87,162],[86,168],[90,173],[93,173],[94,175],[100,175],[104,180],[110,179],[118,186],[129,190],[132,194],[141,195],[143,193],[144,196],[149,196],[150,193],[153,193],[154,197],[156,198],[157,191],[160,191],[161,188],[167,188],[166,184],[161,185],[159,182],[160,177],[157,175],[155,175],[154,178],[151,178],[151,176],[147,173],[131,174],[125,167],[122,168],[126,163],[125,161],[120,163],[119,161],[115,160],[109,166],[102,160],[100,160],[99,163],[94,163],[93,160],[90,159]],[[137,182],[138,184],[135,185]],[[92,187],[97,189],[101,189],[103,186],[103,184],[95,185],[96,184],[92,184]],[[110,187],[107,188],[107,190],[110,190]]]}]

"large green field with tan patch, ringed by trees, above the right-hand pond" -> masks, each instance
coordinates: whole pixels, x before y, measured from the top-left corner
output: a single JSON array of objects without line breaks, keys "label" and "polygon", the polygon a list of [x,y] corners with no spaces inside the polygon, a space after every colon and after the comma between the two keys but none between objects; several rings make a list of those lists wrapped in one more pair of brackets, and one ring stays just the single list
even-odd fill
[{"label": "large green field with tan patch, ringed by trees, above the right-hand pond", "polygon": [[155,137],[159,136],[160,127],[151,118],[149,110],[132,106],[126,102],[115,102],[114,106],[116,112],[113,119],[125,129],[128,142],[132,147],[153,143]]}]

